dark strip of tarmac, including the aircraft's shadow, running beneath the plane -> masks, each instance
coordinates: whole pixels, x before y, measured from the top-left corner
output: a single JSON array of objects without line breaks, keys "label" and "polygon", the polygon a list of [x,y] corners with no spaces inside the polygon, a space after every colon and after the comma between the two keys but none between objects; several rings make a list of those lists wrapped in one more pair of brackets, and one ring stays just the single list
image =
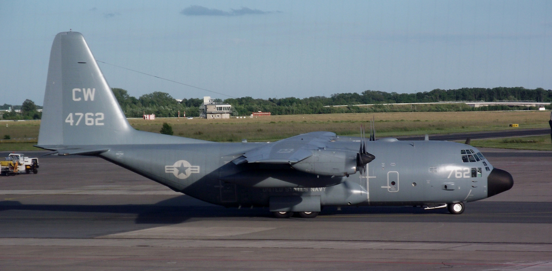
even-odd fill
[{"label": "dark strip of tarmac, including the aircraft's shadow, running beneath the plane", "polygon": [[[134,219],[136,224],[176,224],[188,220],[277,220],[267,208],[224,208],[203,203],[187,195],[176,196],[156,204],[127,205],[65,205],[22,204],[19,201],[0,201],[0,211],[9,211],[10,217],[18,214],[27,218],[47,219],[49,213],[67,212],[71,217],[91,217],[95,220]],[[1,214],[1,213],[0,213]],[[4,212],[4,214],[6,214]],[[108,215],[107,215],[108,214]],[[118,214],[118,215],[114,215]],[[130,216],[129,216],[130,215]],[[4,215],[0,215],[2,217]],[[59,215],[57,215],[59,216]],[[52,219],[54,217],[52,216]],[[310,221],[313,219],[295,220]],[[552,223],[552,203],[476,201],[466,204],[461,215],[452,215],[446,208],[423,210],[420,207],[335,207],[324,208],[314,220],[369,221],[369,222],[502,222],[502,223]]]}]

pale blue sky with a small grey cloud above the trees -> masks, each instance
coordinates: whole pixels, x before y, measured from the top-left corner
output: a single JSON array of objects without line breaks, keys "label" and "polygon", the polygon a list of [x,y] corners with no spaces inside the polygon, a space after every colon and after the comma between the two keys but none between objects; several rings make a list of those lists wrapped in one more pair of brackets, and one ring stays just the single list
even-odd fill
[{"label": "pale blue sky with a small grey cloud above the trees", "polygon": [[2,1],[0,104],[41,105],[51,43],[81,32],[139,97],[552,88],[551,1]]}]

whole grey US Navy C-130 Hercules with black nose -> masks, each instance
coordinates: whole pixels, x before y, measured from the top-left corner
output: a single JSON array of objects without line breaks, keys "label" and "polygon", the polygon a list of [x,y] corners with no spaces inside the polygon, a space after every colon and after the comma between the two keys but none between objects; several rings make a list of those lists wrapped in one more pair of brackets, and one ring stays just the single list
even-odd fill
[{"label": "whole grey US Navy C-130 Hercules with black nose", "polygon": [[98,156],[209,203],[315,217],[323,206],[448,206],[504,192],[511,174],[477,148],[309,132],[277,142],[219,143],[133,129],[81,33],[56,35],[38,147]]}]

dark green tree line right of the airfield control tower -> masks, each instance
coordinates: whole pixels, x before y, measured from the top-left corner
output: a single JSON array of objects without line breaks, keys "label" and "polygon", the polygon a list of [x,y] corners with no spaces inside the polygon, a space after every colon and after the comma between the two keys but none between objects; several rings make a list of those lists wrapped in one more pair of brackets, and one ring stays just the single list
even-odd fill
[{"label": "dark green tree line right of the airfield control tower", "polygon": [[[287,114],[326,114],[326,113],[372,113],[386,111],[473,111],[473,110],[512,110],[526,107],[507,107],[495,105],[491,107],[473,108],[461,104],[436,104],[415,106],[413,108],[394,107],[390,105],[375,105],[374,107],[356,107],[355,104],[385,104],[385,103],[434,103],[452,100],[535,100],[552,102],[552,90],[543,88],[527,89],[523,87],[498,88],[460,88],[433,89],[429,92],[396,93],[383,91],[364,91],[362,93],[337,93],[330,97],[315,96],[309,98],[269,98],[253,99],[243,97],[226,99],[239,115],[248,115],[254,111],[270,111],[274,115]],[[348,105],[347,107],[324,107],[325,105]],[[534,108],[533,108],[534,109]]]}]

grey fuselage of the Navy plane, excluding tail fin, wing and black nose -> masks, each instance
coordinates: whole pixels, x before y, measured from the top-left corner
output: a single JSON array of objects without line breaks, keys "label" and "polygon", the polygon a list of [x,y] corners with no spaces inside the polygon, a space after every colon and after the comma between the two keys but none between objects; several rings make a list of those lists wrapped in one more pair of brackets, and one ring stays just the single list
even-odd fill
[{"label": "grey fuselage of the Navy plane, excluding tail fin, wing and black nose", "polygon": [[[337,137],[335,142],[327,142],[327,148],[356,150],[359,141],[358,137]],[[493,170],[469,145],[392,139],[367,142],[375,160],[367,164],[367,171],[348,177],[300,174],[290,166],[259,169],[254,164],[231,162],[265,144],[271,143],[112,145],[100,156],[173,190],[224,206],[268,206],[270,196],[321,196],[322,206],[468,202],[487,198],[487,177]],[[465,153],[470,150],[475,153]],[[464,162],[462,156],[470,158]],[[244,178],[251,176],[251,181],[227,178],[236,173],[250,174]],[[268,179],[287,182],[281,187],[274,183],[263,187]]]}]

